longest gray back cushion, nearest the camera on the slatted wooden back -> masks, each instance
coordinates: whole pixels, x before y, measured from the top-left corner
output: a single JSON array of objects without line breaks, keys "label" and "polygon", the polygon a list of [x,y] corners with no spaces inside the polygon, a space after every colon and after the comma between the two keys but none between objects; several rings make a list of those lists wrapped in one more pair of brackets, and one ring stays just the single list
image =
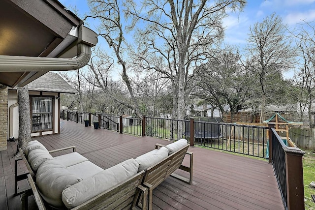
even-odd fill
[{"label": "longest gray back cushion, nearest the camera on the slatted wooden back", "polygon": [[71,209],[137,174],[139,164],[126,160],[63,190],[64,205]]}]

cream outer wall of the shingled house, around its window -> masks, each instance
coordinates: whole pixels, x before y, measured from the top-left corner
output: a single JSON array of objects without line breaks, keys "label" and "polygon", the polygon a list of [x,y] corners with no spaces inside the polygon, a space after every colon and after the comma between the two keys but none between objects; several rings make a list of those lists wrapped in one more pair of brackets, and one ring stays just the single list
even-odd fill
[{"label": "cream outer wall of the shingled house, around its window", "polygon": [[[59,97],[59,94],[57,92],[39,92],[39,91],[29,91],[30,95],[36,96],[36,95],[42,95],[42,96],[53,96],[53,130],[43,130],[38,132],[32,132],[31,136],[41,136],[41,135],[47,135],[47,134],[56,134],[59,133],[59,99],[56,97]],[[7,130],[6,138],[14,137],[15,139],[18,139],[19,137],[19,107],[16,106],[18,103],[18,96],[17,96],[17,90],[9,90],[8,91],[8,101],[7,101],[7,108],[6,111],[8,114],[8,117],[6,119],[7,123]],[[30,101],[30,103],[32,103]],[[31,109],[31,107],[30,107]]]}]

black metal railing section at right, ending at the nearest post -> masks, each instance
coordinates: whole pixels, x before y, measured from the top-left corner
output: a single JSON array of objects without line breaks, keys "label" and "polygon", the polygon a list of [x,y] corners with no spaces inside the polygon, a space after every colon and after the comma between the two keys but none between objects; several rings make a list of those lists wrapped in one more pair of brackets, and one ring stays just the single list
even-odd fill
[{"label": "black metal railing section at right, ending at the nearest post", "polygon": [[271,132],[272,141],[272,165],[274,168],[275,176],[278,182],[280,193],[284,201],[284,207],[287,209],[287,186],[286,186],[286,171],[285,171],[285,151],[286,148],[284,141],[279,137],[276,130],[272,128]]}]

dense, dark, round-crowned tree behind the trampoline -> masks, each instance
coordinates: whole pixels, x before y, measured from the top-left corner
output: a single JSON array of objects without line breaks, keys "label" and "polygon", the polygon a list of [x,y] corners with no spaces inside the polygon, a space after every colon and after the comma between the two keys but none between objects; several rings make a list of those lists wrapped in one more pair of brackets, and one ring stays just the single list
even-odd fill
[{"label": "dense, dark, round-crowned tree behind the trampoline", "polygon": [[228,105],[233,120],[234,114],[247,106],[250,78],[250,72],[240,65],[239,55],[223,50],[198,70],[194,95],[218,107],[221,113]]}]

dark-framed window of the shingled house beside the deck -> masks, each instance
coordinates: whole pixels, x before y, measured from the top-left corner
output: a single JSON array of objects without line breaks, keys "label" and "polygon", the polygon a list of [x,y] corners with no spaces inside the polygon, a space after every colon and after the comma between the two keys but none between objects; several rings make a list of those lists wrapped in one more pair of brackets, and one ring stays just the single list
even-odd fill
[{"label": "dark-framed window of the shingled house beside the deck", "polygon": [[32,131],[53,129],[53,98],[32,98]]}]

